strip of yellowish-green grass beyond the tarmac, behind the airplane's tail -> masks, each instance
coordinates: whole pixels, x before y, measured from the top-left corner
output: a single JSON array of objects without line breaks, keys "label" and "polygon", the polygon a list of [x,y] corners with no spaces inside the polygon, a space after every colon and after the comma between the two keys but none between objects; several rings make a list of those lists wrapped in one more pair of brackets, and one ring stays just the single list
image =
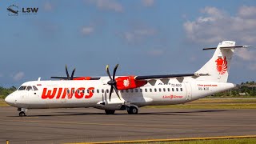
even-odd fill
[{"label": "strip of yellowish-green grass beyond the tarmac, behind the airplane's tail", "polygon": [[256,99],[202,98],[193,102],[168,106],[146,106],[146,108],[174,109],[256,109]]}]

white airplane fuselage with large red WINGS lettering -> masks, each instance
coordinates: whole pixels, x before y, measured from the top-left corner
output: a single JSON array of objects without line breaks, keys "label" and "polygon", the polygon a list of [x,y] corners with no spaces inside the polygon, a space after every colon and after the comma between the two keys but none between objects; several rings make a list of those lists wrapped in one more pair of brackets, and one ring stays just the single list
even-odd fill
[{"label": "white airplane fuselage with large red WINGS lettering", "polygon": [[197,81],[191,77],[156,79],[137,89],[118,90],[121,100],[115,93],[110,100],[108,81],[109,78],[102,77],[99,80],[25,82],[22,86],[36,86],[38,90],[16,90],[6,102],[26,109],[94,107],[119,110],[124,104],[138,107],[181,104],[235,87],[233,83]]}]

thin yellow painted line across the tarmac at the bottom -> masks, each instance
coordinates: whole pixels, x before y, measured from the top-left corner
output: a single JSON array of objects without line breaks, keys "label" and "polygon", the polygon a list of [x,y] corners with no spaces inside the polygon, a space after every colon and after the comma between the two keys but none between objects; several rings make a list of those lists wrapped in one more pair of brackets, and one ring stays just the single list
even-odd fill
[{"label": "thin yellow painted line across the tarmac at the bottom", "polygon": [[226,138],[256,138],[256,135],[238,135],[238,136],[220,136],[220,137],[202,137],[202,138],[168,138],[168,139],[143,139],[132,141],[106,141],[106,142],[74,142],[66,144],[100,144],[100,143],[141,143],[141,142],[174,142],[174,141],[193,141],[193,140],[211,140]]}]

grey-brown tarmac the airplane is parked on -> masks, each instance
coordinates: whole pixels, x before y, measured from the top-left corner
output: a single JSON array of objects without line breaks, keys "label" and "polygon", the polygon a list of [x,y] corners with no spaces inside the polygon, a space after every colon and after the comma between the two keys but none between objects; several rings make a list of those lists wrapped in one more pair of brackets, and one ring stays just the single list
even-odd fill
[{"label": "grey-brown tarmac the airplane is parked on", "polygon": [[141,108],[139,114],[97,109],[30,110],[18,117],[0,107],[0,143],[105,142],[256,134],[256,110]]}]

